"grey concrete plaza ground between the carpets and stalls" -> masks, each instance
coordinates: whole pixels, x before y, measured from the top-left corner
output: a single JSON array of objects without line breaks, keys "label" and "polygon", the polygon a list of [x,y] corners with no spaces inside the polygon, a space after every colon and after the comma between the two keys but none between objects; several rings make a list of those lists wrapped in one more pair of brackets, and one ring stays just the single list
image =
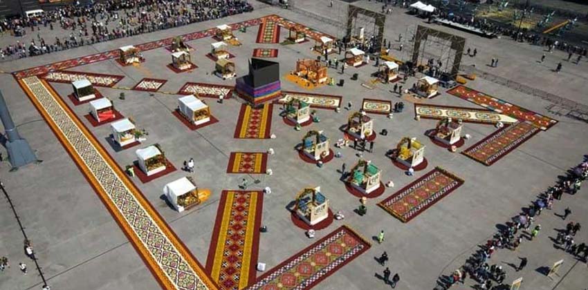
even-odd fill
[{"label": "grey concrete plaza ground between the carpets and stalls", "polygon": [[[374,10],[380,8],[379,4],[373,1],[360,1],[357,4]],[[328,1],[296,1],[298,9],[334,20],[339,20],[338,14],[342,15],[340,12],[346,10],[347,4],[336,1],[334,8],[328,8],[327,5]],[[196,23],[43,57],[10,61],[0,64],[0,70],[11,72],[111,50],[129,43],[143,43],[171,35],[181,35],[221,23],[234,23],[266,14],[279,14],[331,35],[340,35],[340,28],[328,25],[309,13],[301,14],[261,4],[256,4],[256,8],[252,13],[237,15],[230,19]],[[408,16],[401,10],[395,10],[387,17],[386,38],[397,39],[398,33],[405,35],[407,27],[417,23],[423,24],[423,21]],[[578,66],[564,64],[563,71],[555,74],[550,69],[555,68],[555,64],[565,57],[560,52],[549,54],[543,64],[538,64],[535,61],[543,53],[541,48],[513,43],[506,39],[483,39],[448,28],[439,29],[463,35],[468,38],[468,46],[478,48],[478,56],[465,57],[465,64],[475,63],[480,70],[508,77],[513,81],[549,91],[581,104],[588,104],[582,94],[588,88],[585,81],[588,73],[583,61]],[[246,73],[247,60],[253,48],[278,48],[277,60],[282,75],[286,75],[294,68],[296,59],[315,57],[310,50],[312,42],[295,46],[255,43],[257,28],[248,29],[246,33],[236,32],[236,35],[244,43],[241,47],[230,48],[237,56],[237,75]],[[285,37],[287,30],[282,29],[281,35],[282,38]],[[143,77],[167,79],[167,83],[160,88],[163,92],[176,92],[187,81],[232,84],[232,81],[223,81],[210,75],[214,63],[204,57],[209,50],[210,42],[210,39],[190,41],[190,46],[195,48],[192,59],[199,66],[190,73],[178,75],[165,68],[171,59],[169,52],[163,48],[145,52],[147,61],[140,67],[121,68],[115,61],[102,61],[73,70],[125,75],[125,79],[120,81],[118,86],[126,87],[134,86]],[[396,53],[401,55],[399,52]],[[500,59],[498,68],[484,65],[488,64],[492,57]],[[343,103],[352,101],[354,109],[358,109],[364,97],[398,101],[397,95],[389,93],[389,90],[392,90],[391,85],[378,85],[374,90],[360,86],[362,81],[370,79],[369,74],[375,70],[374,66],[369,65],[359,69],[349,68],[345,70],[344,75],[340,75],[331,69],[331,76],[345,79],[344,87],[323,86],[311,93],[342,95]],[[355,72],[359,74],[359,81],[349,79]],[[405,88],[412,86],[415,80],[409,79],[404,84]],[[25,231],[33,241],[44,276],[53,289],[158,289],[158,283],[143,261],[12,76],[1,74],[0,84],[21,135],[28,139],[39,158],[44,160],[42,164],[26,166],[15,173],[9,173],[9,164],[3,162],[0,164],[0,180],[12,197]],[[71,93],[69,85],[53,83],[53,86],[62,97]],[[304,91],[284,78],[282,86],[284,90]],[[549,102],[484,79],[471,81],[468,86],[554,117],[560,122],[549,131],[538,133],[493,166],[486,167],[468,157],[450,153],[432,144],[423,133],[433,128],[435,122],[415,121],[412,104],[405,100],[407,110],[405,113],[395,114],[394,119],[387,119],[381,115],[374,116],[376,130],[387,128],[389,134],[378,136],[374,153],[365,153],[365,157],[383,170],[384,182],[394,180],[396,187],[387,189],[381,197],[370,200],[365,217],[353,213],[352,210],[358,205],[358,200],[347,193],[342,182],[338,180],[340,173],[337,171],[340,166],[346,163],[349,168],[357,159],[354,156],[355,152],[351,148],[344,148],[341,150],[342,158],[326,164],[323,168],[302,162],[293,146],[300,142],[307,128],[297,132],[284,125],[277,114],[277,107],[271,129],[272,133],[277,135],[277,139],[233,139],[241,104],[235,99],[225,101],[224,104],[218,104],[214,99],[205,99],[213,115],[220,120],[219,124],[198,131],[187,131],[170,112],[176,106],[176,95],[154,93],[151,96],[145,92],[125,90],[127,98],[120,101],[117,96],[122,90],[98,89],[114,99],[116,107],[125,116],[133,117],[140,128],[145,128],[149,132],[147,144],[158,143],[163,146],[168,159],[176,167],[181,166],[183,160],[190,157],[196,160],[196,171],[193,176],[199,182],[199,186],[212,189],[213,194],[205,204],[190,211],[176,213],[160,197],[167,182],[176,180],[186,173],[176,171],[147,184],[134,181],[201,263],[205,262],[208,255],[214,218],[219,206],[219,194],[224,189],[236,189],[243,177],[226,174],[230,152],[266,151],[267,148],[274,148],[276,154],[270,155],[268,162],[268,167],[273,169],[274,174],[248,177],[250,181],[259,178],[259,188],[270,186],[273,189],[273,193],[264,200],[263,223],[268,226],[269,231],[261,235],[260,262],[266,262],[271,268],[313,242],[304,237],[302,230],[293,226],[285,206],[304,186],[320,185],[322,192],[331,201],[331,209],[345,213],[344,224],[356,229],[369,240],[382,229],[386,231],[387,236],[383,244],[374,244],[367,253],[338,270],[315,289],[387,289],[388,286],[374,277],[374,273],[383,271],[383,267],[374,261],[374,257],[379,256],[382,251],[387,251],[391,271],[398,272],[401,276],[397,289],[422,290],[432,289],[437,276],[459,267],[468,254],[475,251],[477,244],[484,242],[497,231],[497,224],[502,224],[516,215],[522,206],[529,204],[536,195],[553,184],[556,177],[567,168],[580,162],[586,153],[585,146],[580,144],[585,144],[588,140],[588,126],[573,119],[552,115],[546,110]],[[474,106],[444,92],[427,103]],[[86,106],[77,106],[73,109],[120,166],[133,162],[134,149],[120,153],[111,150],[105,139],[109,134],[108,126],[94,128],[86,122],[82,117],[87,113]],[[330,110],[318,110],[318,114],[321,122],[309,128],[324,130],[331,140],[342,137],[338,128],[347,122],[347,110],[342,110],[339,114]],[[474,144],[494,130],[491,126],[466,124],[464,133],[472,135],[466,146]],[[405,136],[417,137],[427,146],[425,157],[430,164],[428,169],[441,166],[465,180],[463,186],[407,224],[399,222],[376,206],[377,202],[428,172],[425,170],[416,173],[414,177],[407,177],[385,157],[385,152],[394,148]],[[586,264],[576,262],[570,255],[555,249],[549,239],[555,237],[555,229],[562,229],[567,222],[553,213],[562,213],[567,206],[573,211],[570,220],[588,224],[588,197],[585,191],[583,189],[575,196],[565,195],[562,202],[555,204],[553,211],[546,211],[538,218],[543,228],[538,239],[524,242],[517,253],[503,250],[493,256],[491,262],[505,265],[508,273],[506,281],[523,277],[523,289],[538,290],[582,289],[580,287],[588,284]],[[7,203],[0,206],[0,255],[6,255],[12,266],[0,273],[0,289],[40,289],[41,279],[33,269],[33,261],[24,255],[21,244],[23,237],[12,211]],[[318,238],[327,235],[340,224],[342,223],[334,222],[327,229],[318,231]],[[585,229],[578,233],[576,241],[586,242],[587,238],[588,232]],[[529,265],[524,271],[515,273],[508,267],[508,263],[517,264],[517,256],[528,257]],[[560,259],[564,259],[565,262],[560,269],[560,276],[553,280],[537,271],[540,267],[549,267]],[[21,261],[29,266],[27,276],[19,272],[18,263]],[[467,284],[472,284],[472,281],[469,280]]]}]

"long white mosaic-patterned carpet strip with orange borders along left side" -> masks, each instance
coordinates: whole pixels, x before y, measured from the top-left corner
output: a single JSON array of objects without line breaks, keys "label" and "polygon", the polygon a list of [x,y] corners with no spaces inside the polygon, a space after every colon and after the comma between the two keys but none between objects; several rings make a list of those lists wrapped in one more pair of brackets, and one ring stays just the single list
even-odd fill
[{"label": "long white mosaic-patterned carpet strip with orange borders along left side", "polygon": [[202,266],[57,93],[37,77],[19,84],[164,289],[216,289]]}]

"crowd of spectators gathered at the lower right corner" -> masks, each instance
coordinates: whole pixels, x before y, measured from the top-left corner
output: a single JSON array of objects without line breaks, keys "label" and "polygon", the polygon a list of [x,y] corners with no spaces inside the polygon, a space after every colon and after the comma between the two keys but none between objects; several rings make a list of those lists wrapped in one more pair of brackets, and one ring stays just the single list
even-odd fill
[{"label": "crowd of spectators gathered at the lower right corner", "polygon": [[[532,241],[538,237],[542,228],[536,220],[542,211],[544,209],[551,210],[553,203],[556,200],[561,200],[564,193],[568,193],[569,195],[576,194],[580,190],[582,181],[586,180],[587,177],[588,155],[585,155],[585,160],[581,164],[571,169],[557,184],[551,186],[544,193],[541,193],[529,206],[524,207],[522,213],[515,215],[510,221],[506,222],[486,244],[480,244],[479,250],[472,253],[463,266],[450,275],[441,276],[437,280],[437,287],[435,289],[450,289],[452,285],[458,282],[464,283],[468,276],[477,282],[477,289],[511,289],[510,285],[504,284],[506,271],[502,269],[502,266],[490,263],[490,258],[493,253],[498,249],[511,249],[512,251],[516,251],[524,240]],[[565,220],[570,214],[571,210],[567,208],[564,214],[556,215]],[[560,233],[558,234],[558,238],[555,239],[555,244],[577,259],[582,259],[588,263],[587,244],[585,242],[576,244],[573,240],[573,236],[580,229],[580,223],[569,222],[566,229],[559,231]],[[520,257],[519,265],[515,267],[515,270],[520,271],[524,269],[527,262],[527,258]]]}]

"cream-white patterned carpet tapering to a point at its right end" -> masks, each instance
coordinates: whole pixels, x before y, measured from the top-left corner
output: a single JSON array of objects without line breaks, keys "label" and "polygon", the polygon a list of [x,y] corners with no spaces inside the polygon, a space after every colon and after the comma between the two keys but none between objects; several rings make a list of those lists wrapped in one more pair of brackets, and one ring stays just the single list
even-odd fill
[{"label": "cream-white patterned carpet tapering to a point at its right end", "polygon": [[463,122],[479,124],[512,124],[518,120],[503,114],[493,113],[490,110],[479,108],[463,108],[454,106],[439,106],[427,104],[414,104],[414,115],[423,119],[461,119]]}]

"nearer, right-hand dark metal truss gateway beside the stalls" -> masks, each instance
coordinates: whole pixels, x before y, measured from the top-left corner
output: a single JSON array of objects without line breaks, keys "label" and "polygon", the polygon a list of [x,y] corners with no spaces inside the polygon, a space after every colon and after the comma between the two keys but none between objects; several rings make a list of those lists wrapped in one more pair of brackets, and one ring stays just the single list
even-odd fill
[{"label": "nearer, right-hand dark metal truss gateway beside the stalls", "polygon": [[[465,46],[466,39],[463,37],[419,25],[414,34],[411,61],[414,66],[428,66],[429,59],[433,59],[434,66],[438,66],[442,73],[445,72],[449,79],[455,80]],[[428,48],[435,52],[429,52],[431,49]]]}]

